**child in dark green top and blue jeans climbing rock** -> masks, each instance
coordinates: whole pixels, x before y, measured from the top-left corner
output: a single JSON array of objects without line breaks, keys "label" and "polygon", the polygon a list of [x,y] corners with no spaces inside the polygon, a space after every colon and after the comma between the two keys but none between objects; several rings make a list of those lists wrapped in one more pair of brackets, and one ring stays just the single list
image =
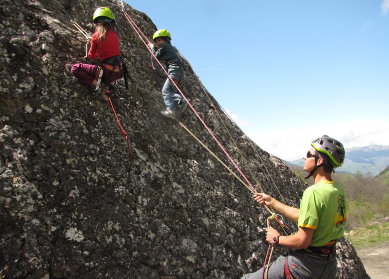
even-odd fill
[{"label": "child in dark green top and blue jeans climbing rock", "polygon": [[[184,79],[185,75],[180,58],[170,43],[171,39],[172,37],[168,30],[158,30],[153,35],[153,41],[157,44],[157,47],[152,43],[149,43],[149,47],[154,55],[165,63],[170,77],[177,85]],[[166,106],[166,111],[161,112],[162,115],[175,119],[188,110],[188,103],[177,91],[176,86],[168,78],[162,88],[162,95]],[[191,99],[188,99],[188,101],[192,104]]]}]

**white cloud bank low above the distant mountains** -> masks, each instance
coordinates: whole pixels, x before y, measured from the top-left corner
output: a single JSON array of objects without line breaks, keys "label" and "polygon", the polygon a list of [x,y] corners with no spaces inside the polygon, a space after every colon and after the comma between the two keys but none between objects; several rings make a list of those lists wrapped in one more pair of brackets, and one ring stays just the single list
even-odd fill
[{"label": "white cloud bank low above the distant mountains", "polygon": [[[259,129],[258,129],[259,130]],[[285,160],[302,158],[310,142],[323,135],[338,139],[345,148],[372,144],[389,145],[389,122],[344,122],[247,132],[259,147]]]}]

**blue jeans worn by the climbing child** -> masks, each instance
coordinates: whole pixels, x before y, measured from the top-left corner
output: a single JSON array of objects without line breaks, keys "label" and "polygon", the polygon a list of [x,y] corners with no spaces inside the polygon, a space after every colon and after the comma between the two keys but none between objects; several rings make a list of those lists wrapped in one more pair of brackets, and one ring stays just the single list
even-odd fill
[{"label": "blue jeans worn by the climbing child", "polygon": [[[180,83],[185,77],[184,68],[180,67],[177,70],[173,70],[169,73],[169,75]],[[183,97],[177,92],[178,90],[176,86],[173,84],[170,78],[168,78],[165,81],[164,87],[162,88],[162,96],[164,97],[165,106],[167,110],[174,111],[176,105],[180,103],[181,99],[183,99]]]}]

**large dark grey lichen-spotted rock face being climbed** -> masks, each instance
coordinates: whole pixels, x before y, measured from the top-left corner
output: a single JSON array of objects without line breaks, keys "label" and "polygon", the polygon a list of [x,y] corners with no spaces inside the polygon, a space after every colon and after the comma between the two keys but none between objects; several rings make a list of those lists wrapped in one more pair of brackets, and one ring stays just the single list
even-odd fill
[{"label": "large dark grey lichen-spotted rock face being climbed", "polygon": [[[160,116],[166,76],[153,70],[122,7],[148,37],[156,30],[150,18],[117,0],[0,3],[0,275],[210,279],[259,269],[269,213],[178,122]],[[133,161],[109,103],[94,101],[68,71],[86,61],[70,18],[92,33],[98,6],[114,11],[137,82],[126,90],[118,81],[113,98]],[[249,173],[185,65],[184,94]],[[297,207],[306,185],[222,118],[264,191]],[[183,123],[234,169],[193,112]],[[337,278],[368,278],[346,240],[337,254]]]}]

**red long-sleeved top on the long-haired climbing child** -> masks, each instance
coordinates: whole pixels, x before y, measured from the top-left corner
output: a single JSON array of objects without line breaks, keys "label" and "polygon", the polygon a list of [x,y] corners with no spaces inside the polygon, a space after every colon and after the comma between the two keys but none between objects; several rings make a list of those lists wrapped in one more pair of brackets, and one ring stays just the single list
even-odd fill
[{"label": "red long-sleeved top on the long-haired climbing child", "polygon": [[95,32],[92,36],[90,49],[88,52],[90,59],[99,56],[100,61],[104,61],[112,56],[121,56],[119,49],[118,34],[111,29],[108,30],[105,40],[98,39],[99,33]]}]

